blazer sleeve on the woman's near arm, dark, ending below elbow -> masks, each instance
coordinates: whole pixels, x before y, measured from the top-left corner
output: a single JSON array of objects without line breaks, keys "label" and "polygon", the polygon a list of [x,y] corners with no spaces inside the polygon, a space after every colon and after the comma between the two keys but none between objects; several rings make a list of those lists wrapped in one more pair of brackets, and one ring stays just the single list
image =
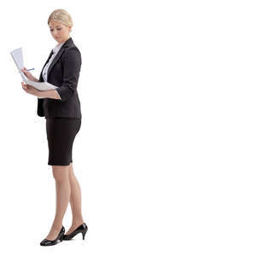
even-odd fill
[{"label": "blazer sleeve on the woman's near arm, dark, ending below elbow", "polygon": [[82,64],[81,54],[77,47],[67,49],[63,59],[63,82],[61,87],[55,89],[61,97],[61,102],[67,101],[77,90]]}]

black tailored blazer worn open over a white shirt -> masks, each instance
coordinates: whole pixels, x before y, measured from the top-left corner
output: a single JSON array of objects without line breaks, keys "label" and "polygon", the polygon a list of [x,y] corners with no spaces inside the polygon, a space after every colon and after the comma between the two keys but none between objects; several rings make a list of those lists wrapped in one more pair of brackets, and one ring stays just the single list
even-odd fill
[{"label": "black tailored blazer worn open over a white shirt", "polygon": [[[51,50],[47,61],[53,55]],[[38,98],[38,116],[47,117],[70,117],[82,118],[79,94],[77,91],[79,82],[79,73],[82,64],[82,58],[79,49],[73,43],[72,38],[61,46],[61,49],[55,55],[47,73],[47,82],[58,86],[55,90],[61,96],[59,99]],[[40,73],[39,82],[44,82],[43,70]]]}]

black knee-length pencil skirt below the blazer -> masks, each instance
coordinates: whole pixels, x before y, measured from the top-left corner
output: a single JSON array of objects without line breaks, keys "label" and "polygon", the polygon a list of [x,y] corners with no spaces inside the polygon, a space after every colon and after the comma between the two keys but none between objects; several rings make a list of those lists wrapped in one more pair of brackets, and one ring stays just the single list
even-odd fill
[{"label": "black knee-length pencil skirt below the blazer", "polygon": [[49,166],[68,166],[73,162],[73,141],[81,127],[81,119],[45,118],[49,148]]}]

